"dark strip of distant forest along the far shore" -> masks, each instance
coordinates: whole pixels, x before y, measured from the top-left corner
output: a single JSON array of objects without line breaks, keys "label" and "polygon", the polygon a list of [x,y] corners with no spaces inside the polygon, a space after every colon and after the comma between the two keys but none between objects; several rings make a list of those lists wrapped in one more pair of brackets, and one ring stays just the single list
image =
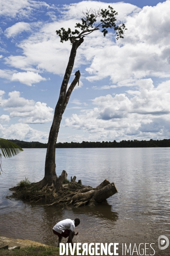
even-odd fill
[{"label": "dark strip of distant forest along the far shore", "polygon": [[[26,142],[23,140],[10,140],[21,148],[47,148],[48,143],[40,143],[37,141]],[[170,147],[170,139],[164,140],[122,140],[116,142],[102,141],[102,142],[64,142],[56,143],[56,148],[155,148],[155,147]]]}]

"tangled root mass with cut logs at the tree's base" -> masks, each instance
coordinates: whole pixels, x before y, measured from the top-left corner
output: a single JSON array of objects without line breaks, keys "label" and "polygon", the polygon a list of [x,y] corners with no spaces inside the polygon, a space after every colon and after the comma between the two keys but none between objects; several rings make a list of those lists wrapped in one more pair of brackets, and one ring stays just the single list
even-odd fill
[{"label": "tangled root mass with cut logs at the tree's base", "polygon": [[114,183],[110,183],[107,179],[96,188],[92,188],[82,185],[81,180],[76,182],[76,176],[71,177],[71,182],[66,178],[67,173],[63,170],[59,177],[56,176],[51,180],[51,185],[48,180],[44,186],[39,186],[42,184],[41,181],[25,187],[16,186],[9,189],[14,191],[9,197],[30,203],[41,203],[45,207],[81,207],[99,204],[118,192]]}]

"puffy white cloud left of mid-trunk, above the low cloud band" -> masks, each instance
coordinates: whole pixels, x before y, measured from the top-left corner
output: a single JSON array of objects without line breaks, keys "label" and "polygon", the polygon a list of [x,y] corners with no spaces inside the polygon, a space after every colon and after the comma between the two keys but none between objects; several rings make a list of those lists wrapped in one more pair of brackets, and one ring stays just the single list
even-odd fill
[{"label": "puffy white cloud left of mid-trunk, above the low cloud band", "polygon": [[0,107],[10,112],[10,117],[20,117],[23,123],[45,123],[53,119],[53,108],[47,107],[46,103],[34,102],[20,97],[20,92],[8,93],[9,98],[4,99],[4,91],[0,91]]}]

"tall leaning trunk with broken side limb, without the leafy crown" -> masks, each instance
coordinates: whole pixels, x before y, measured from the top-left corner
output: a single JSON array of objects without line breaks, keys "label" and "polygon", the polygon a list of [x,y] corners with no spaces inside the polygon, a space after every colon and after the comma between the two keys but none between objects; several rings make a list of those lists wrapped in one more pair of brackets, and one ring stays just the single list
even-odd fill
[{"label": "tall leaning trunk with broken side limb, without the leafy crown", "polygon": [[82,44],[84,41],[83,38],[80,38],[79,40],[74,41],[72,44],[72,49],[70,53],[70,58],[68,61],[67,68],[65,70],[64,79],[62,81],[60,93],[59,93],[59,99],[54,111],[54,119],[53,123],[51,125],[51,130],[48,137],[48,147],[47,147],[47,153],[45,158],[45,176],[44,178],[37,183],[37,186],[42,187],[45,185],[51,185],[53,180],[57,178],[56,175],[56,163],[55,163],[55,151],[56,151],[56,142],[59,132],[59,126],[62,120],[62,114],[65,111],[65,108],[68,104],[68,100],[71,96],[71,93],[76,86],[77,82],[80,78],[80,72],[79,70],[75,73],[75,78],[73,82],[71,83],[70,87],[67,91],[68,81],[70,79],[73,66],[74,66],[74,60],[77,53],[77,48]]}]

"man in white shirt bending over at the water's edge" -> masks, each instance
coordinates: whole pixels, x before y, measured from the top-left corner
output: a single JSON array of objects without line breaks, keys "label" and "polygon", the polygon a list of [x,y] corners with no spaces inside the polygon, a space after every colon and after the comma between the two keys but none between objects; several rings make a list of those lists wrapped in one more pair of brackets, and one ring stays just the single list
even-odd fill
[{"label": "man in white shirt bending over at the water's edge", "polygon": [[78,232],[75,233],[74,229],[80,224],[79,218],[76,218],[74,221],[71,219],[65,219],[63,221],[59,221],[54,227],[53,227],[53,233],[58,236],[58,247],[61,243],[62,237],[67,238],[67,243],[71,243],[73,247],[73,238],[74,235],[77,236]]}]

